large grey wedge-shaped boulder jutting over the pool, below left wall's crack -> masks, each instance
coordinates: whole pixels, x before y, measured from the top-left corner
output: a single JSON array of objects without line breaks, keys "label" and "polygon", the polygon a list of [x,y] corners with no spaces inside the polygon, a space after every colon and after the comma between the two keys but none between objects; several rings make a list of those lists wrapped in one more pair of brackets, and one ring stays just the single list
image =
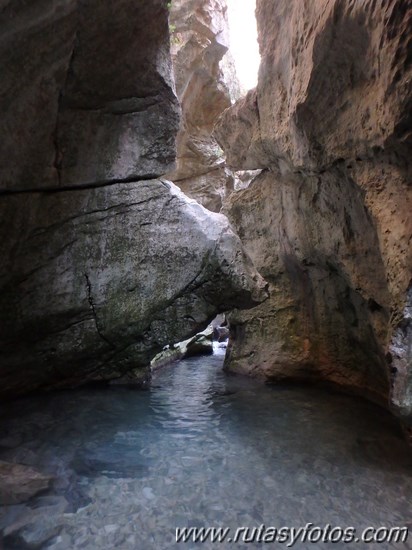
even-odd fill
[{"label": "large grey wedge-shaped boulder jutting over the pool, below left wall's crack", "polygon": [[225,216],[148,180],[1,203],[2,395],[121,378],[265,297]]}]

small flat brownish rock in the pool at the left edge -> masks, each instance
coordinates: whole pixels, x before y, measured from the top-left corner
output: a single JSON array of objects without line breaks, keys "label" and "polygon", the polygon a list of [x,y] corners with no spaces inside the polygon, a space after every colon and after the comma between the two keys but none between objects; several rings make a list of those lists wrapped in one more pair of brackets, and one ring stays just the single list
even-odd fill
[{"label": "small flat brownish rock in the pool at the left edge", "polygon": [[0,504],[19,504],[50,487],[52,476],[22,464],[0,461]]}]

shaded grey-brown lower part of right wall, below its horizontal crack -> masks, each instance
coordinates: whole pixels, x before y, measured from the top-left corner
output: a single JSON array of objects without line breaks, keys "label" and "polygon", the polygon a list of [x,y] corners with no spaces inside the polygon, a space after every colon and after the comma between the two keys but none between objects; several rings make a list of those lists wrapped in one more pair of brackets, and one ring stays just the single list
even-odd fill
[{"label": "shaded grey-brown lower part of right wall, below its horizontal crack", "polygon": [[272,381],[329,380],[385,402],[390,297],[359,190],[339,172],[265,172],[230,201],[270,298],[229,317],[227,368]]}]

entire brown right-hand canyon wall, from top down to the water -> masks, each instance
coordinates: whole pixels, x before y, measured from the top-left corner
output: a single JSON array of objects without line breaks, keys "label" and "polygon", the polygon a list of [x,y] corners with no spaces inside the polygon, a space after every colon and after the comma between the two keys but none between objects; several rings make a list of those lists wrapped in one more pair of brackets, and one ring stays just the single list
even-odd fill
[{"label": "entire brown right-hand canyon wall, from top down to the water", "polygon": [[412,421],[412,9],[303,4],[258,0],[259,83],[216,130],[231,168],[264,170],[228,212],[271,283],[232,316],[227,367],[392,386]]}]

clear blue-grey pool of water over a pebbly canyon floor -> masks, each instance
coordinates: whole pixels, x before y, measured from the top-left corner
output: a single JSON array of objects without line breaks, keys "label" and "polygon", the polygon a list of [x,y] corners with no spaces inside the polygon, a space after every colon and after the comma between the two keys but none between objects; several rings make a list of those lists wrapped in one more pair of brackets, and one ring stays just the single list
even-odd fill
[{"label": "clear blue-grey pool of water over a pebbly canyon floor", "polygon": [[176,544],[175,529],[412,527],[411,453],[389,414],[320,389],[227,376],[222,361],[223,351],[186,359],[146,391],[87,388],[2,406],[0,459],[55,476],[49,493],[0,509],[0,528],[23,534],[3,548],[286,548]]}]

